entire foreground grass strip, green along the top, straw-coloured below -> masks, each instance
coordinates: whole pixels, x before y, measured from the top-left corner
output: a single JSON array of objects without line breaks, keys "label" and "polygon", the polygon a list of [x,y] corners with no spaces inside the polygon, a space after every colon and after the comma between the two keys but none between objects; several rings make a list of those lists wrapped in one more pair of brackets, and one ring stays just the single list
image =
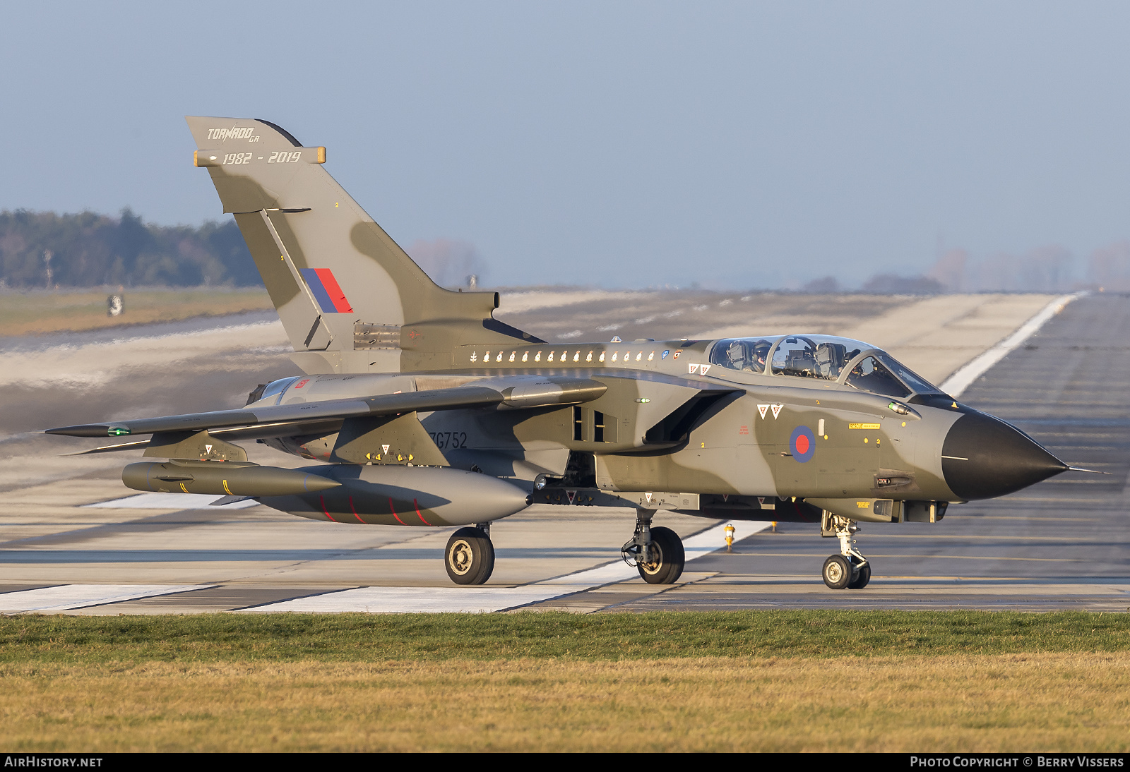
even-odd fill
[{"label": "entire foreground grass strip, green along the top, straw-coloured below", "polygon": [[1127,751],[1130,615],[0,619],[28,751]]}]

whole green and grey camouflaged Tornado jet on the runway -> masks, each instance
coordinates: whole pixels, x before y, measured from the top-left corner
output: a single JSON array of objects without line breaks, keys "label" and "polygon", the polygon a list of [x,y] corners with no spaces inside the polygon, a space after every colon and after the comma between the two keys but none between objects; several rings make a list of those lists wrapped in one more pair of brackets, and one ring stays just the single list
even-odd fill
[{"label": "whole green and grey camouflaged Tornado jet on the runway", "polygon": [[[947,507],[1070,468],[862,341],[766,335],[550,344],[494,318],[496,292],[437,287],[325,172],[325,148],[267,121],[189,117],[195,166],[235,217],[303,375],[244,407],[50,429],[142,436],[140,491],[251,498],[333,523],[462,526],[445,567],[494,568],[490,524],[532,503],[636,512],[625,560],[652,584],[684,550],[655,511],[819,524],[832,588],[862,588],[859,521]],[[247,462],[260,440],[316,464]]]}]

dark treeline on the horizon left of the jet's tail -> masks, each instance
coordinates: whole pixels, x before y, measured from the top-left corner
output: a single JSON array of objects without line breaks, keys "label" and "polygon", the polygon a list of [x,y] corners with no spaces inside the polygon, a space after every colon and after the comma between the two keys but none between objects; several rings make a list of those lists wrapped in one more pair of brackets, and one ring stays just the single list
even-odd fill
[{"label": "dark treeline on the horizon left of the jet's tail", "polygon": [[[50,260],[49,260],[50,256]],[[129,209],[0,212],[0,279],[7,287],[262,286],[235,220],[146,225]]]}]

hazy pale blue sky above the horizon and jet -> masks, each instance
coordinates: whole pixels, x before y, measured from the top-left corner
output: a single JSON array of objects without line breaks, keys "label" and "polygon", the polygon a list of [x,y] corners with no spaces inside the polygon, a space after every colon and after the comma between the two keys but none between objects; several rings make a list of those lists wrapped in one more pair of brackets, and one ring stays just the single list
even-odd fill
[{"label": "hazy pale blue sky above the horizon and jet", "polygon": [[0,209],[219,219],[261,117],[494,286],[796,287],[1130,238],[1130,3],[0,5]]}]

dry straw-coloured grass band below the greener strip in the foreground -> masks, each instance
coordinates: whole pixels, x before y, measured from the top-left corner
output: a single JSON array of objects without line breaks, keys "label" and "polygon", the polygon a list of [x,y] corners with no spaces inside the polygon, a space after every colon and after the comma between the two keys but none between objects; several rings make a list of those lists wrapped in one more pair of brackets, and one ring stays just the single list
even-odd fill
[{"label": "dry straw-coloured grass band below the greener strip in the foreground", "polygon": [[1130,655],[0,666],[32,751],[1128,751]]}]

